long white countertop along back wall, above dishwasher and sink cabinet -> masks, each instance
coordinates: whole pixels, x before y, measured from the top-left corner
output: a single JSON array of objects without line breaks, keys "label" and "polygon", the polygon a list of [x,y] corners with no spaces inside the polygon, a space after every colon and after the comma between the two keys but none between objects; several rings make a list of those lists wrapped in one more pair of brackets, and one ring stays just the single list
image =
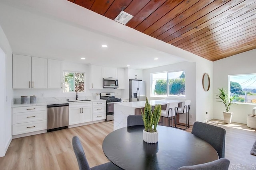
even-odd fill
[{"label": "long white countertop along back wall, above dishwasher and sink cabinet", "polygon": [[42,105],[48,105],[48,104],[73,104],[73,103],[85,103],[85,102],[100,102],[100,101],[105,101],[106,100],[90,100],[90,101],[77,101],[77,102],[68,102],[68,101],[48,101],[48,102],[38,102],[34,104],[12,104],[12,107],[27,107],[27,106],[42,106]]}]

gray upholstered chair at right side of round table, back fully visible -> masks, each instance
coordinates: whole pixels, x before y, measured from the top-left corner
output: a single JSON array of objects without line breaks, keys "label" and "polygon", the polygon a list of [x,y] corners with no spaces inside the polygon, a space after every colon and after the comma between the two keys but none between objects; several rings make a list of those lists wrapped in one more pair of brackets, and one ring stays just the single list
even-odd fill
[{"label": "gray upholstered chair at right side of round table, back fully visible", "polygon": [[225,157],[225,129],[196,121],[191,133],[210,143],[217,151],[219,158]]}]

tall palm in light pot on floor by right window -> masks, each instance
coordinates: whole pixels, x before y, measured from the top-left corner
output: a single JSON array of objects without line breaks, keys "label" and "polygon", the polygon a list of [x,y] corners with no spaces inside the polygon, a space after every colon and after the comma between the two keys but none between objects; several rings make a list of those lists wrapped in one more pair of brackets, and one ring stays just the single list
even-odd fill
[{"label": "tall palm in light pot on floor by right window", "polygon": [[228,91],[223,88],[218,88],[219,92],[215,95],[217,96],[217,102],[222,102],[225,105],[226,111],[223,112],[224,123],[230,124],[232,119],[232,112],[229,112],[232,101],[236,96],[228,96]]}]

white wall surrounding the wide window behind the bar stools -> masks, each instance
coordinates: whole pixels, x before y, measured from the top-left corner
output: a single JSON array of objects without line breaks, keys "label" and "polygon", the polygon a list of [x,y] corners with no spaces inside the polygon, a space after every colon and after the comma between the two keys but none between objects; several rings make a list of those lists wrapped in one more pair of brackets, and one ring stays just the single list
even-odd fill
[{"label": "white wall surrounding the wide window behind the bar stools", "polygon": [[[150,96],[150,74],[164,71],[180,71],[185,70],[186,74],[186,100],[191,100],[190,114],[192,118],[189,119],[190,124],[196,121],[196,63],[182,62],[176,64],[170,64],[166,66],[160,66],[155,68],[149,68],[143,70],[143,80],[146,82],[146,96],[148,100],[158,100],[163,98],[156,98]],[[166,98],[167,99],[167,98]],[[171,99],[171,98],[169,98]],[[185,100],[185,99],[183,99]],[[180,115],[180,122],[185,123],[186,117]]]}]

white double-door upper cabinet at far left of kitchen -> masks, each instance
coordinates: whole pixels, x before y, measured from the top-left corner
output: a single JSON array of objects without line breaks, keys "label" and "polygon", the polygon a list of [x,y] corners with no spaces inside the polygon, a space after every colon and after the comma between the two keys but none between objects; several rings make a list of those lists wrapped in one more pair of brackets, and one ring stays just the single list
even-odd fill
[{"label": "white double-door upper cabinet at far left of kitchen", "polygon": [[14,54],[12,62],[12,88],[47,88],[47,59]]}]

